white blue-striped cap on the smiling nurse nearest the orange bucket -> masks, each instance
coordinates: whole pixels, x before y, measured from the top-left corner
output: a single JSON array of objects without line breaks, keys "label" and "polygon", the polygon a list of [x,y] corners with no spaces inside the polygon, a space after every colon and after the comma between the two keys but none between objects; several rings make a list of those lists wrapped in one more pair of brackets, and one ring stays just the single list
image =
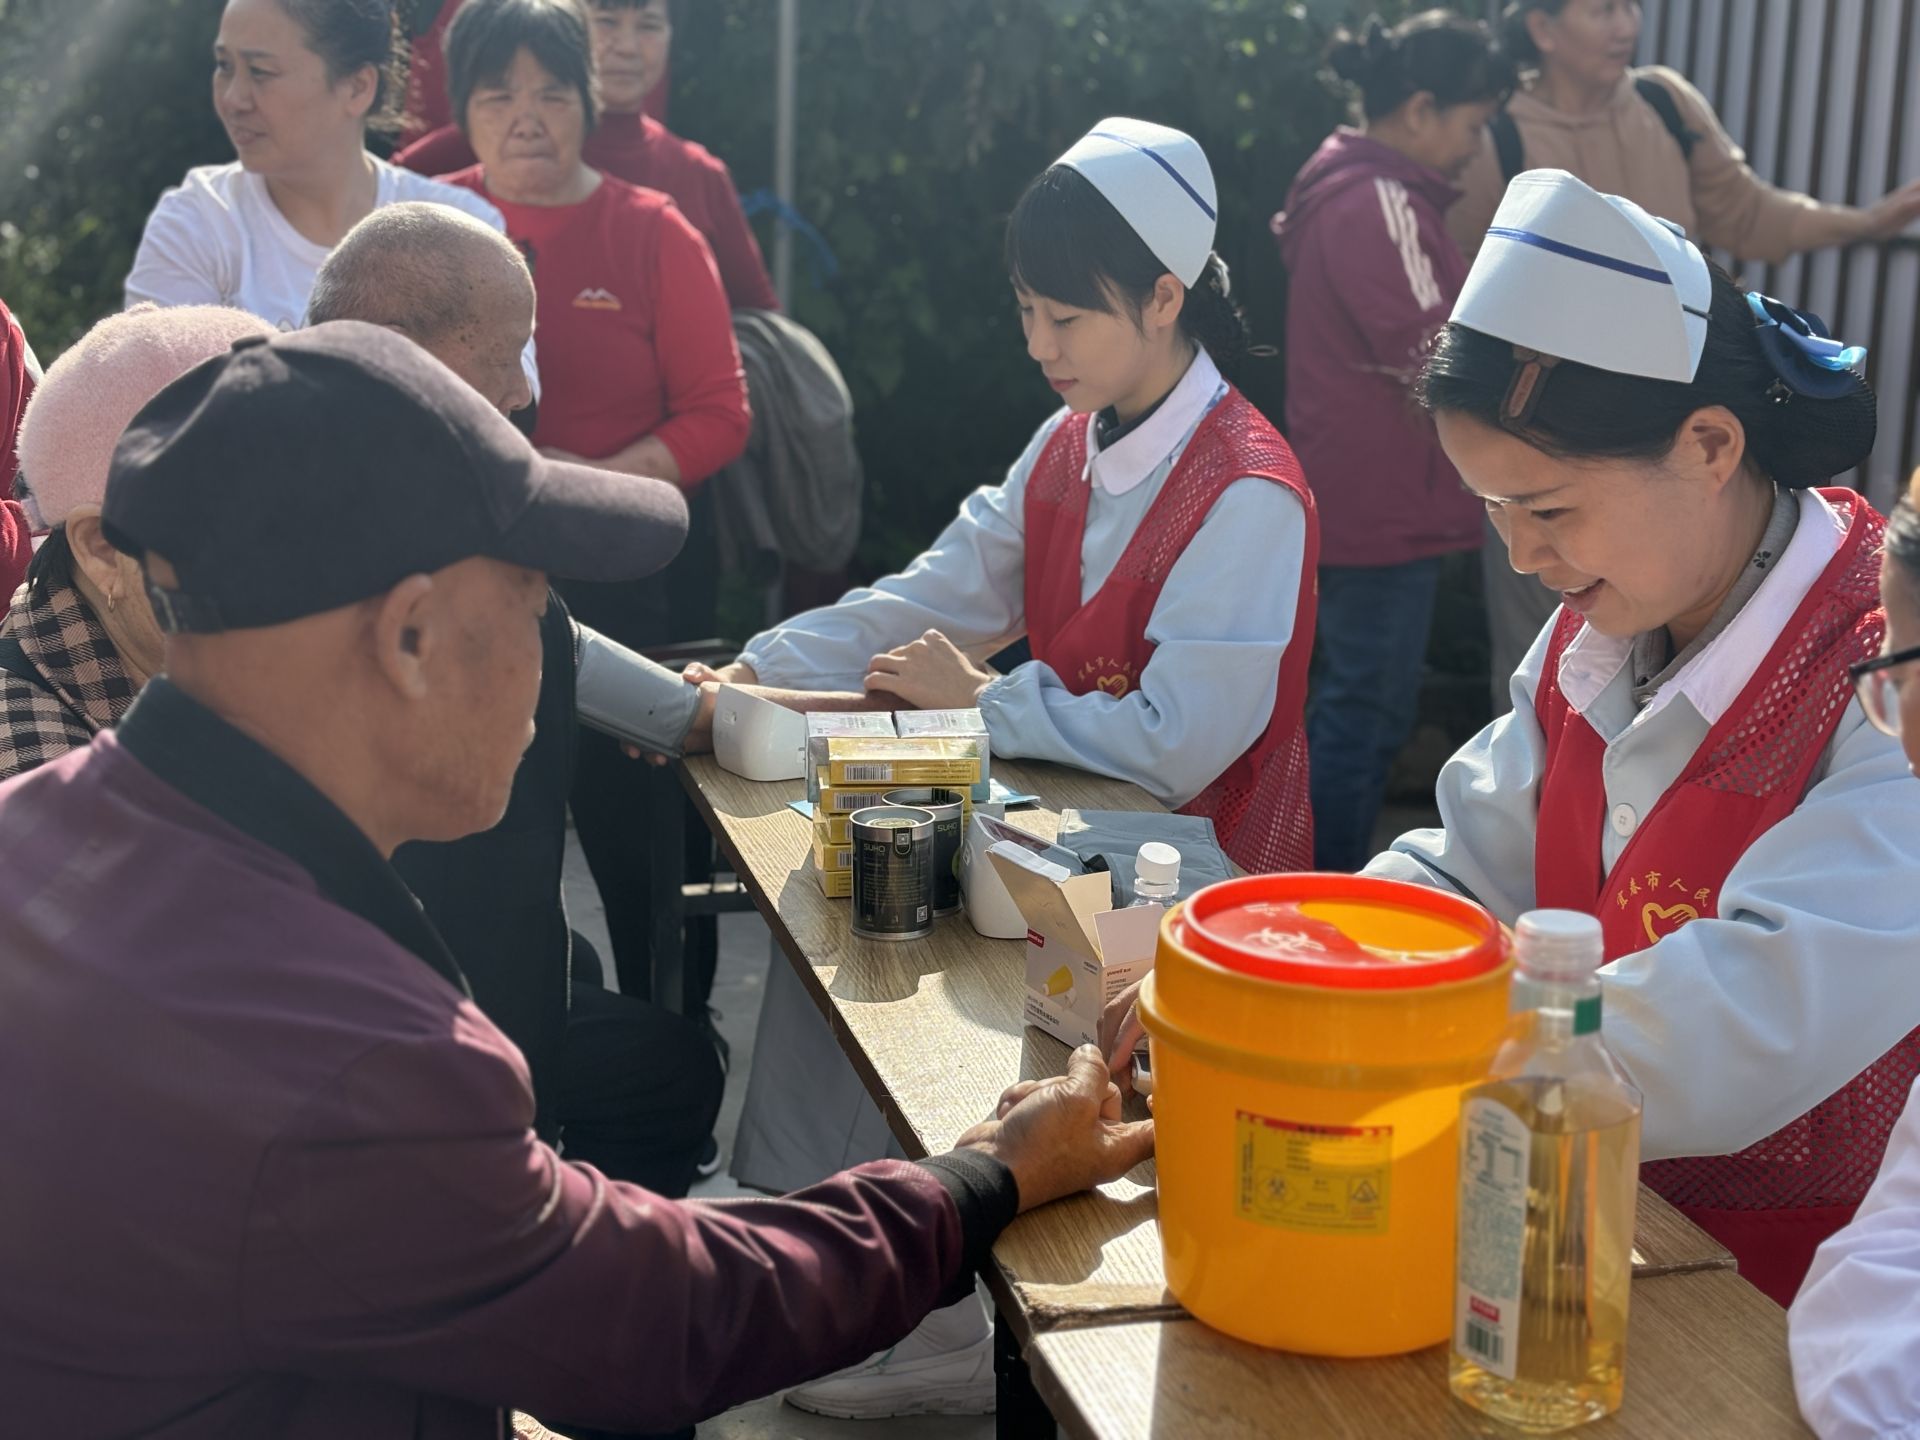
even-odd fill
[{"label": "white blue-striped cap on the smiling nurse nearest the orange bucket", "polygon": [[1567,171],[1507,186],[1453,323],[1617,374],[1690,382],[1713,275],[1686,234]]}]

